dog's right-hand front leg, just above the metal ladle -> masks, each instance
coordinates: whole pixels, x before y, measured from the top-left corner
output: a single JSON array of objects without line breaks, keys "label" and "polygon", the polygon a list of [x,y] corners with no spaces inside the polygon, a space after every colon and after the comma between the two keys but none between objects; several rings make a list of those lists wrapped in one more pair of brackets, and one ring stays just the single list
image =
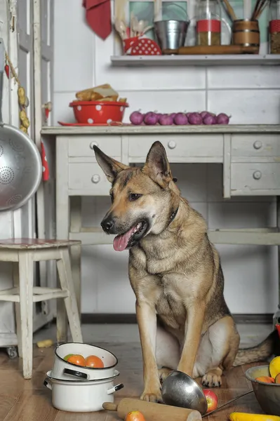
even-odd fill
[{"label": "dog's right-hand front leg, just above the metal ladle", "polygon": [[185,342],[178,365],[178,370],[192,377],[199,342],[201,340],[202,326],[204,323],[205,306],[192,303],[187,306],[187,321],[185,325]]}]

